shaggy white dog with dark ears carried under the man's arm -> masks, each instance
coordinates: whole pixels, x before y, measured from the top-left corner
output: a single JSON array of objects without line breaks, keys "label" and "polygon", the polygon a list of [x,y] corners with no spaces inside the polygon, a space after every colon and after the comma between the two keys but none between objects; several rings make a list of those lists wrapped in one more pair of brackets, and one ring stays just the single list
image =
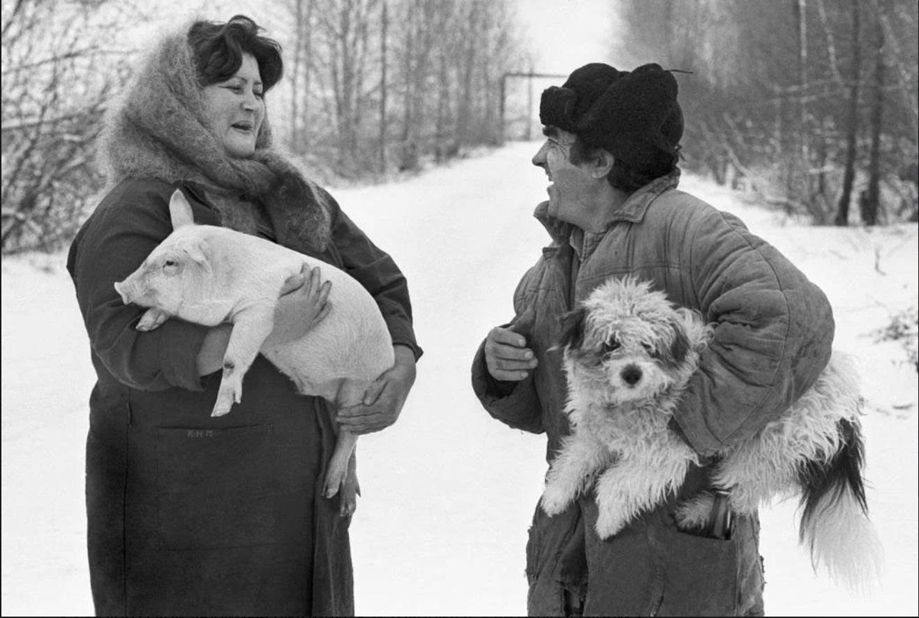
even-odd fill
[{"label": "shaggy white dog with dark ears carried under the man's arm", "polygon": [[[689,463],[700,463],[668,424],[712,328],[631,278],[608,280],[562,320],[573,435],[551,464],[541,504],[555,515],[596,486],[596,532],[605,539],[674,494]],[[815,567],[853,588],[879,566],[857,383],[852,361],[834,351],[817,383],[781,418],[719,453],[712,479],[732,514],[800,495],[801,544]],[[715,505],[708,492],[687,500],[677,507],[677,524],[703,530]]]}]

